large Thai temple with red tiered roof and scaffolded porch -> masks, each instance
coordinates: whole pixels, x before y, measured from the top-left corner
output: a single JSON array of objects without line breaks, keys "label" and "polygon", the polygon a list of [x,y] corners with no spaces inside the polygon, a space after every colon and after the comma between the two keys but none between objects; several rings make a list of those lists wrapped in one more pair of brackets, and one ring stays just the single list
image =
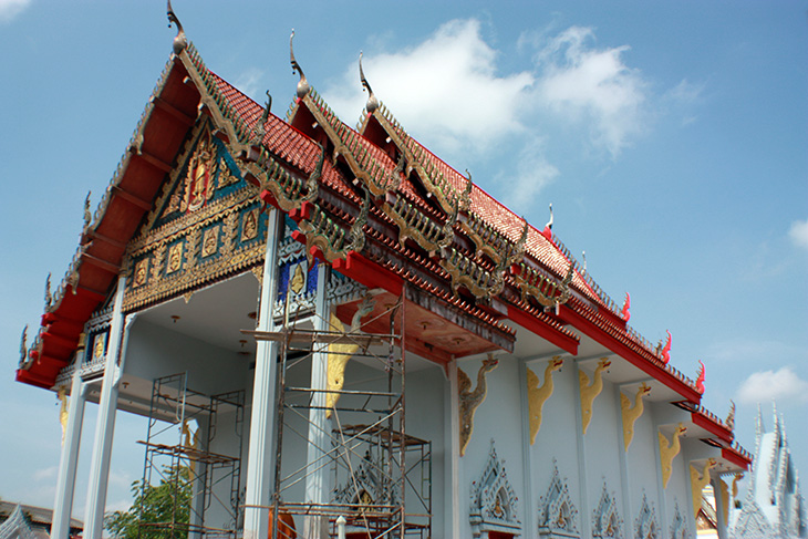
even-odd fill
[{"label": "large Thai temple with red tiered roof and scaffolded porch", "polygon": [[[17,380],[62,402],[52,538],[84,495],[86,403],[87,539],[124,412],[148,418],[143,480],[190,481],[187,518],[144,515],[148,537],[691,538],[707,486],[729,537],[752,463],[734,408],[700,404],[704,365],[673,369],[670,336],[638,334],[551,218],[534,227],[419,144],[361,59],[352,127],[290,40],[281,118],[168,15],[174,52],[23,332]],[[757,445],[773,459],[752,480],[791,497],[783,517],[749,499],[735,529],[793,530],[779,423]]]}]

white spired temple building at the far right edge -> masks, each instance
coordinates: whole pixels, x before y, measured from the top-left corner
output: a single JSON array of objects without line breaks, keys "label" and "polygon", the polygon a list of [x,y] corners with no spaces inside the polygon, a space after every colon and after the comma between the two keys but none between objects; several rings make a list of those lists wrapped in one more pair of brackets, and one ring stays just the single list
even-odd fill
[{"label": "white spired temple building at the far right edge", "polygon": [[[786,425],[775,406],[773,431],[766,432],[758,408],[755,424],[755,460],[744,498],[731,511],[731,538],[793,539],[808,533],[799,476],[786,439]],[[733,491],[737,496],[737,491]]]}]

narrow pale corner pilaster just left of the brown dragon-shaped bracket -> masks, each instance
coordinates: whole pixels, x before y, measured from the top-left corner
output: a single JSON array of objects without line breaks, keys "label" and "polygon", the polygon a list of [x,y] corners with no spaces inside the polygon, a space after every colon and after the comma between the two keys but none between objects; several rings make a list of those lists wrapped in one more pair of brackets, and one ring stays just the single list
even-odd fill
[{"label": "narrow pale corner pilaster just left of the brown dragon-shaped bracket", "polygon": [[[460,401],[457,385],[457,360],[447,365],[449,379],[448,433],[446,436],[446,493],[445,507],[448,509],[445,520],[444,537],[460,537]],[[464,500],[466,501],[466,500]]]}]

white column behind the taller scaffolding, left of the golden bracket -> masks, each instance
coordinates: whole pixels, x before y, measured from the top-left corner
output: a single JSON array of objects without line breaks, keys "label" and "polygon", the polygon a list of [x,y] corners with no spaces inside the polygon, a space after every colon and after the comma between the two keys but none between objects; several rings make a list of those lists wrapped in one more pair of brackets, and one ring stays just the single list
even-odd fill
[{"label": "white column behind the taller scaffolding, left of the golden bracket", "polygon": [[[324,263],[318,265],[317,271],[317,298],[314,302],[314,331],[328,331],[329,305],[325,298],[328,291],[328,267]],[[324,344],[315,344],[317,348],[324,348]],[[307,449],[307,477],[305,477],[305,501],[309,504],[324,504],[327,496],[325,452],[329,444],[328,419],[325,417],[325,393],[328,388],[328,351],[315,352],[311,359],[311,388],[319,390],[311,397],[309,410],[309,446]],[[325,537],[328,522],[322,517],[309,517],[305,519],[303,537],[305,539],[320,539]]]}]

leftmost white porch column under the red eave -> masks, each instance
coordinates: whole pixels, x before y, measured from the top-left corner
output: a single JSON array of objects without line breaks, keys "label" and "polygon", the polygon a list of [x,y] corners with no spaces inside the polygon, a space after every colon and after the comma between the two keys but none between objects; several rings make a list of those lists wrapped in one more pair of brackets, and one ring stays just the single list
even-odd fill
[{"label": "leftmost white porch column under the red eave", "polygon": [[86,384],[81,377],[80,370],[76,369],[70,390],[64,445],[62,446],[62,456],[59,459],[56,498],[53,502],[53,524],[51,525],[52,539],[68,539],[70,536],[70,517],[73,512],[73,494],[75,490],[75,468],[79,462],[85,402]]}]

